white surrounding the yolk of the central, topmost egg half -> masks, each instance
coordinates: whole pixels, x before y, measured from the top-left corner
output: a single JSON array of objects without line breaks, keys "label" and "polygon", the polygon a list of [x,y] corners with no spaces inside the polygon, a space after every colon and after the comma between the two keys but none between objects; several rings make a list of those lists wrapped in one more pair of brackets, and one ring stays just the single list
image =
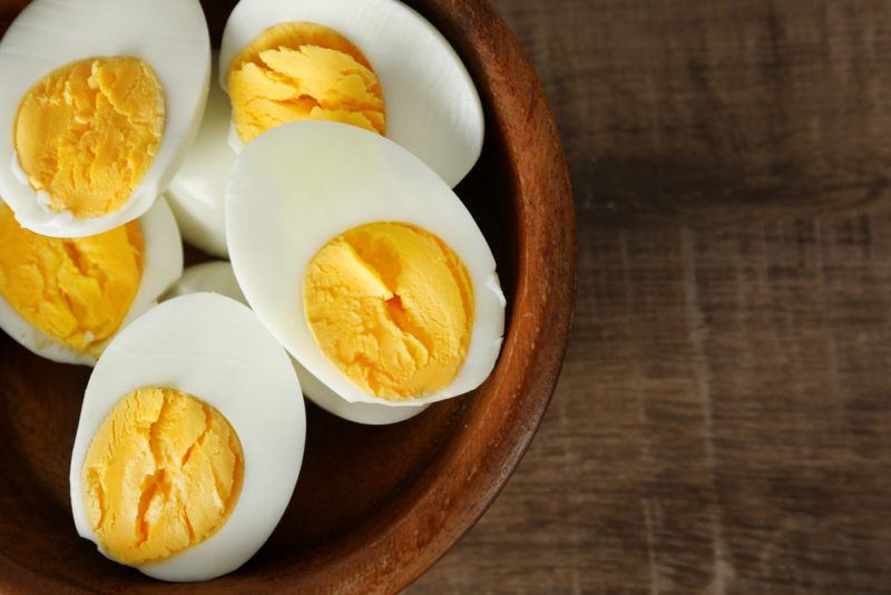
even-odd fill
[{"label": "white surrounding the yolk of the central, topmost egg half", "polygon": [[[438,235],[467,266],[474,319],[463,365],[446,388],[404,401],[366,394],[320,350],[306,322],[303,277],[334,236],[393,221]],[[412,407],[477,388],[491,372],[505,329],[505,295],[486,238],[460,198],[400,145],[331,121],[280,126],[236,158],[226,194],[232,265],[247,302],[313,375],[351,402]]]}]

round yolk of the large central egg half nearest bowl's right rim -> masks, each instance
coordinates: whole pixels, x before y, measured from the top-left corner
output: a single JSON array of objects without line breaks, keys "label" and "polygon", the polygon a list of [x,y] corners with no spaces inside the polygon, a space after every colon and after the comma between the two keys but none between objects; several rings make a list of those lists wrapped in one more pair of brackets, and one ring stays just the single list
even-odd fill
[{"label": "round yolk of the large central egg half nearest bowl's right rim", "polygon": [[330,241],[303,280],[322,352],[362,390],[390,400],[448,386],[467,355],[473,283],[439,237],[371,223]]}]

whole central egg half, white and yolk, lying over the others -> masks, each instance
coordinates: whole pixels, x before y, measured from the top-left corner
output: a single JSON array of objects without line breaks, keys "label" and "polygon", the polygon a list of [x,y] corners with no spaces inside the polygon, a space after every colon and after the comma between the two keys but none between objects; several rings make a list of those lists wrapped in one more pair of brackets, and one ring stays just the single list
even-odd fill
[{"label": "whole central egg half, white and yolk, lying over the others", "polygon": [[495,367],[506,302],[491,250],[400,145],[332,121],[274,128],[236,158],[226,231],[247,302],[346,401],[430,403]]}]

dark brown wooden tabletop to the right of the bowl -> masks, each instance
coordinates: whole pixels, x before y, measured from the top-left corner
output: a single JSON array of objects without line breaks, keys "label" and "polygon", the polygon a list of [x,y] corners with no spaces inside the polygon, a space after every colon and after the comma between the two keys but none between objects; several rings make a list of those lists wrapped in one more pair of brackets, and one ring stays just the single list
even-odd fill
[{"label": "dark brown wooden tabletop to the right of the bowl", "polygon": [[575,329],[410,593],[891,592],[891,3],[496,3],[566,145]]}]

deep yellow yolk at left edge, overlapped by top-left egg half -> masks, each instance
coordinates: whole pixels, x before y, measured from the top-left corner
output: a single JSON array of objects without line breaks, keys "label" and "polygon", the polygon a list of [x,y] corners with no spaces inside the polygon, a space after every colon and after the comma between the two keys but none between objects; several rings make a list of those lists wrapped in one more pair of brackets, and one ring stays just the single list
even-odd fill
[{"label": "deep yellow yolk at left edge, overlapped by top-left egg half", "polygon": [[75,351],[111,336],[143,279],[136,222],[90,237],[46,237],[0,204],[0,294],[21,318]]}]

